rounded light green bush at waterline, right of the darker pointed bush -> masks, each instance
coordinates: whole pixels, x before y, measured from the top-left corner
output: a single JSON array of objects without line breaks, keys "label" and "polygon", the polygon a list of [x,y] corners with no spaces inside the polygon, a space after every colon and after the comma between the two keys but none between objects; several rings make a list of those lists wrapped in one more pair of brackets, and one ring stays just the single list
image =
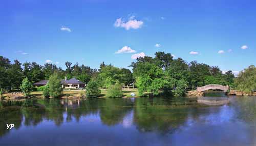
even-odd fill
[{"label": "rounded light green bush at waterline, right of the darker pointed bush", "polygon": [[120,98],[123,96],[122,86],[119,83],[115,83],[109,87],[109,90],[106,92],[106,97],[109,98]]}]

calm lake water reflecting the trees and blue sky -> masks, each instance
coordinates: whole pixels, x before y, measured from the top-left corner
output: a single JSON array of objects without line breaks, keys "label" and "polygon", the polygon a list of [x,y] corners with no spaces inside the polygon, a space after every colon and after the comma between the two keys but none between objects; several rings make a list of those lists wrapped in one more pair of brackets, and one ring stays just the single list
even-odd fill
[{"label": "calm lake water reflecting the trees and blue sky", "polygon": [[228,100],[219,106],[196,98],[1,102],[0,145],[256,145],[256,97]]}]

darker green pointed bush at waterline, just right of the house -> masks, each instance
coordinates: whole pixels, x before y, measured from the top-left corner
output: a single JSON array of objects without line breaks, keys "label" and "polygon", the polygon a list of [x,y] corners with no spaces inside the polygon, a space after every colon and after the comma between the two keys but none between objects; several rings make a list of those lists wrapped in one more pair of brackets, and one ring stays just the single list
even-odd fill
[{"label": "darker green pointed bush at waterline, just right of the house", "polygon": [[89,81],[86,87],[86,97],[88,98],[95,98],[100,95],[99,85],[96,81],[91,80]]}]

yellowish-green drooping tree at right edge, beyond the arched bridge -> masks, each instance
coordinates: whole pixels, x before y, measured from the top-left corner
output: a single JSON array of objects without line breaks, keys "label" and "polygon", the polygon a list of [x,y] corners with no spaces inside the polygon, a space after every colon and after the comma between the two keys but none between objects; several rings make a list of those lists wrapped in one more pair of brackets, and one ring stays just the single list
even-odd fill
[{"label": "yellowish-green drooping tree at right edge, beyond the arched bridge", "polygon": [[238,74],[238,77],[234,80],[234,85],[237,90],[251,93],[252,90],[256,90],[256,68],[251,65],[244,71]]}]

